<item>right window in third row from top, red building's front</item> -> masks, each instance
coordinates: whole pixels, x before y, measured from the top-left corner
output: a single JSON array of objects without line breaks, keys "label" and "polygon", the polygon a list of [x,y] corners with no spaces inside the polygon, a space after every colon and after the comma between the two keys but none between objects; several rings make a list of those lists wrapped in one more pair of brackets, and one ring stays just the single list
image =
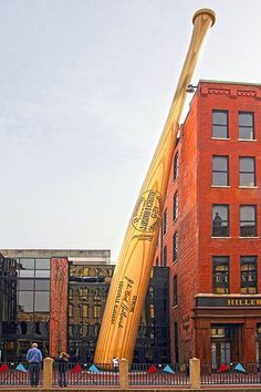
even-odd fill
[{"label": "right window in third row from top, red building's front", "polygon": [[257,237],[255,206],[240,206],[240,237]]}]

